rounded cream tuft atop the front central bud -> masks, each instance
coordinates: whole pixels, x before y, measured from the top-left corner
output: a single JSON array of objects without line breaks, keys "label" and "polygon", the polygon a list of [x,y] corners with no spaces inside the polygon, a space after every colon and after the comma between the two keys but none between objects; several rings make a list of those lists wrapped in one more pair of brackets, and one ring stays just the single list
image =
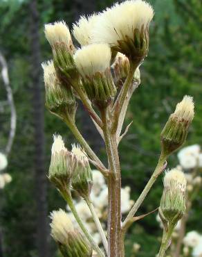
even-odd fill
[{"label": "rounded cream tuft atop the front central bud", "polygon": [[89,44],[75,52],[74,60],[82,76],[93,76],[110,67],[111,49],[108,44]]}]

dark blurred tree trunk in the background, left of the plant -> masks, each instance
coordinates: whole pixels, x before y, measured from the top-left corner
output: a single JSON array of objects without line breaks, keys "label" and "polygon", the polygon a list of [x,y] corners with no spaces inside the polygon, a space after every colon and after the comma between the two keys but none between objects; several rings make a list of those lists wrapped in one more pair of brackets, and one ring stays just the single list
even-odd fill
[{"label": "dark blurred tree trunk in the background, left of the plant", "polygon": [[37,0],[30,0],[30,77],[33,92],[33,124],[35,129],[35,197],[37,216],[37,256],[49,257],[46,171],[44,168],[44,101],[39,43]]}]

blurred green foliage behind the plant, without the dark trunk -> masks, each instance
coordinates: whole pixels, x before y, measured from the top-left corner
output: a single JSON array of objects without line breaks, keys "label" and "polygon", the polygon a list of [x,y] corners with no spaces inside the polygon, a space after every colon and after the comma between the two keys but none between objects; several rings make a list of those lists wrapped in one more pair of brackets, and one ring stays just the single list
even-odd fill
[{"label": "blurred green foliage behind the plant, without the dark trunk", "polygon": [[[133,199],[138,197],[154,170],[160,151],[160,131],[184,94],[192,95],[196,103],[196,115],[187,144],[201,144],[202,133],[201,1],[153,0],[150,2],[154,5],[156,15],[150,29],[149,55],[140,67],[142,83],[131,99],[125,125],[131,120],[134,122],[120,144],[122,183],[131,186]],[[111,0],[93,2],[95,10],[105,8],[111,3]],[[42,55],[43,60],[47,60],[51,58],[51,51],[43,35],[44,23],[64,19],[71,24],[73,17],[77,17],[75,12],[78,15],[82,15],[82,10],[85,12],[85,4],[81,7],[77,1],[42,0],[38,1],[38,8]],[[8,60],[10,84],[17,108],[17,135],[8,165],[8,172],[12,174],[13,181],[1,192],[3,244],[6,256],[29,257],[36,255],[32,158],[35,139],[30,106],[32,88],[29,85],[29,72],[32,71],[29,66],[28,0],[0,1],[0,15],[0,49]],[[1,92],[3,92],[2,88]],[[0,99],[2,100],[5,96],[3,92]],[[82,113],[79,113],[79,117],[81,115]],[[59,119],[47,111],[45,117],[48,169],[53,133],[61,133],[68,145],[73,142],[73,137]],[[3,124],[3,118],[1,122]],[[1,149],[6,142],[5,138],[6,135],[3,133]],[[103,149],[101,153],[104,153]],[[176,164],[176,156],[170,157],[168,167]],[[161,193],[162,181],[158,179],[138,214],[147,213],[158,207]],[[188,224],[191,229],[202,227],[201,197],[202,194],[199,194],[194,203],[194,210]],[[48,188],[48,204],[49,210],[64,207],[64,201],[52,185]],[[155,256],[159,247],[157,238],[160,233],[156,214],[149,215],[138,224],[134,224],[127,235],[127,257],[131,256],[134,242],[141,244],[139,257]],[[53,247],[54,251],[55,247]]]}]

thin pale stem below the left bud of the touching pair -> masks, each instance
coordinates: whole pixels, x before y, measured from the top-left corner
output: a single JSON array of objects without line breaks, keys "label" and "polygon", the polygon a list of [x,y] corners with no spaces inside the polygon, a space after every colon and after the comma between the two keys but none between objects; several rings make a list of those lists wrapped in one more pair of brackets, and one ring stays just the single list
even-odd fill
[{"label": "thin pale stem below the left bud of the touching pair", "polygon": [[95,243],[95,241],[91,237],[89,231],[86,229],[86,227],[84,226],[82,220],[80,219],[80,216],[78,215],[77,210],[76,210],[76,208],[75,208],[75,206],[73,204],[73,199],[71,197],[71,192],[69,190],[64,190],[63,192],[61,192],[61,194],[64,197],[64,199],[66,200],[66,202],[67,202],[69,208],[71,209],[71,212],[73,213],[77,223],[79,224],[80,228],[82,229],[82,231],[86,235],[86,238],[89,240],[89,242],[90,242],[91,246],[93,247],[93,249],[97,252],[98,256],[104,257],[104,254],[102,253],[102,251],[98,247],[98,244]]}]

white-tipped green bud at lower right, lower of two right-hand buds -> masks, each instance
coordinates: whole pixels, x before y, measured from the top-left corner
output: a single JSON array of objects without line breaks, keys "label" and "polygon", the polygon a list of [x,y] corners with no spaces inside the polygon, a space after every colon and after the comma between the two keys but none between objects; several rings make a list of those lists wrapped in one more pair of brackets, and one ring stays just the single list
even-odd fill
[{"label": "white-tipped green bud at lower right, lower of two right-hand buds", "polygon": [[176,225],[185,213],[185,190],[187,181],[183,172],[171,169],[163,179],[163,195],[160,200],[160,212],[169,224]]}]

